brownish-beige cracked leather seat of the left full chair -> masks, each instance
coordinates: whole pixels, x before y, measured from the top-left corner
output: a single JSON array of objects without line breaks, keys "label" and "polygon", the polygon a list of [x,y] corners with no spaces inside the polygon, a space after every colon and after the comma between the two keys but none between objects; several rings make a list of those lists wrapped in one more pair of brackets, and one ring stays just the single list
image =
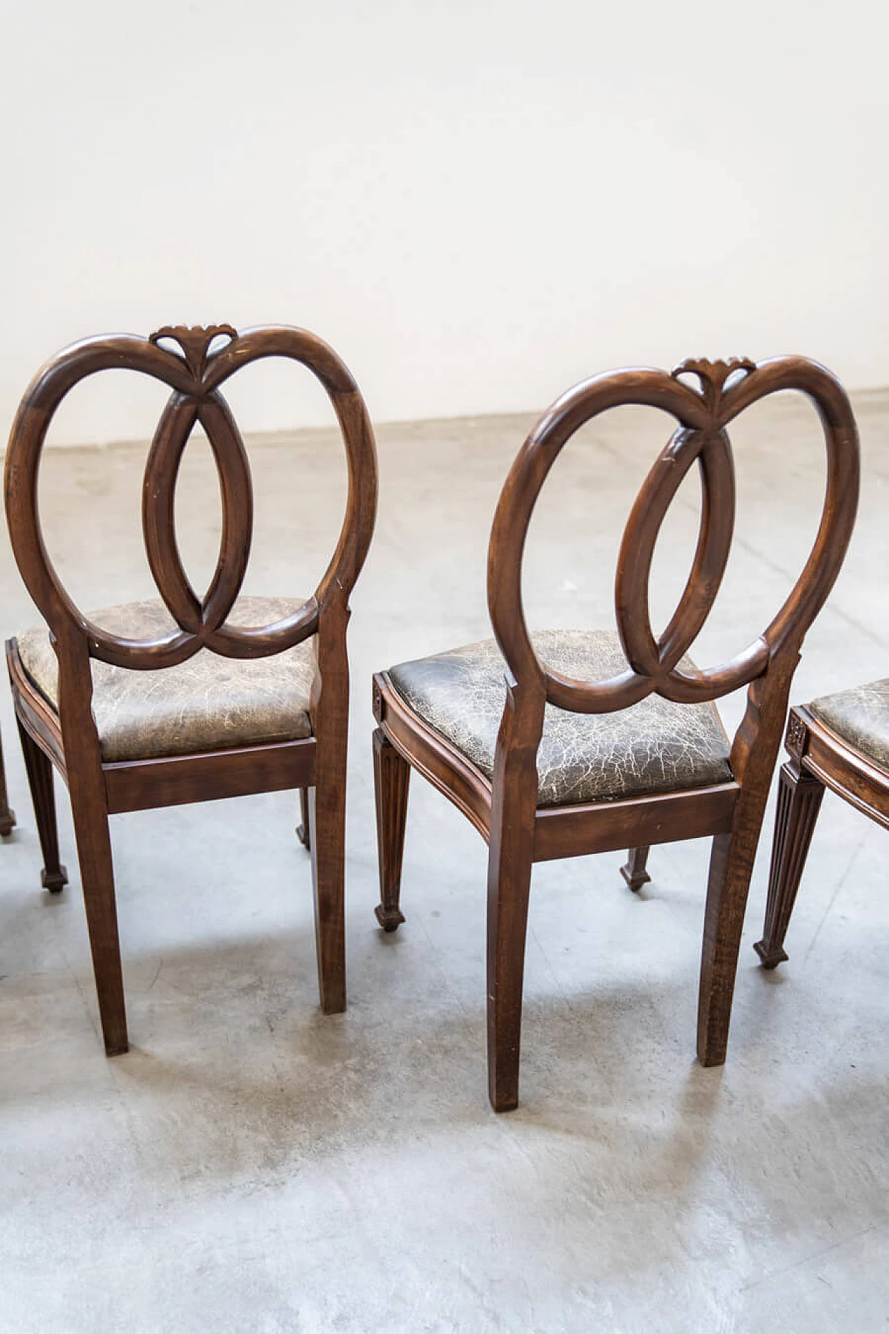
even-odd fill
[{"label": "brownish-beige cracked leather seat of the left full chair", "polygon": [[[239,598],[229,623],[269,626],[301,604],[289,598]],[[89,619],[128,639],[153,639],[175,628],[159,599],[91,612]],[[25,672],[57,711],[59,663],[47,630],[27,630],[17,644]],[[312,735],[313,639],[268,658],[220,658],[201,648],[188,662],[159,671],[132,671],[97,659],[91,666],[92,708],[101,758],[108,763]]]}]

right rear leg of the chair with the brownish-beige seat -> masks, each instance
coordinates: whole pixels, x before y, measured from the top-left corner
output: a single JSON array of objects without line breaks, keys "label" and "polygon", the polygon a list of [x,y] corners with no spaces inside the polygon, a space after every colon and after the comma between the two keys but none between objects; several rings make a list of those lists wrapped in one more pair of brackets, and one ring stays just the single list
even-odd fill
[{"label": "right rear leg of the chair with the brownish-beige seat", "polygon": [[[344,759],[344,756],[343,756]],[[319,992],[325,1014],[345,1010],[345,763],[309,788]]]}]

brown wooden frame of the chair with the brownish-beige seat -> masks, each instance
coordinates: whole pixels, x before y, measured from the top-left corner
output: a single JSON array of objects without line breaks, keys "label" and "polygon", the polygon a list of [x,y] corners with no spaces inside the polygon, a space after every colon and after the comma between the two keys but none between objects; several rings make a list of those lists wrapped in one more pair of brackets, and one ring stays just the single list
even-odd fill
[{"label": "brown wooden frame of the chair with the brownish-beige seat", "polygon": [[[213,343],[216,351],[211,350]],[[272,356],[305,366],[324,386],[345,444],[349,490],[340,538],[315,595],[277,624],[244,628],[229,624],[228,616],[249,558],[251,472],[221,387],[243,366]],[[40,530],[37,470],[49,423],[75,384],[108,368],[139,371],[171,390],[145,466],[143,531],[152,575],[177,628],[153,640],[124,639],[93,624],[68,598]],[[203,598],[181,566],[173,524],[179,466],[196,424],[207,434],[223,499],[219,560]],[[268,327],[237,334],[223,324],[165,327],[147,340],[129,335],[88,339],[47,363],[21,402],[7,451],[7,518],[19,570],[55,639],[59,712],[27,676],[15,640],[7,646],[7,663],[44,854],[43,883],[52,891],[65,883],[64,867],[59,864],[52,764],[69,787],[109,1055],[128,1046],[108,836],[108,816],[119,811],[300,788],[307,831],[311,826],[321,1005],[328,1013],[345,1007],[343,868],[349,699],[345,630],[349,595],[373,532],[376,498],[376,448],[361,394],[332,348],[304,329]],[[307,740],[103,762],[91,708],[91,658],[140,671],[185,662],[201,648],[228,658],[261,658],[312,635],[317,667],[311,702],[312,736]]]}]

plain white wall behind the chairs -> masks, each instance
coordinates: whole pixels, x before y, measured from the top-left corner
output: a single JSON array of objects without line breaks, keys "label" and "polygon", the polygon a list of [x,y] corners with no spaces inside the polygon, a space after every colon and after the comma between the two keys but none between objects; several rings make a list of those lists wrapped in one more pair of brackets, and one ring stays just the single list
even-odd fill
[{"label": "plain white wall behind the chairs", "polygon": [[[183,321],[315,329],[377,420],[686,355],[886,384],[888,39],[885,0],[7,0],[3,431],[65,343]],[[61,439],[153,426],[88,407]]]}]

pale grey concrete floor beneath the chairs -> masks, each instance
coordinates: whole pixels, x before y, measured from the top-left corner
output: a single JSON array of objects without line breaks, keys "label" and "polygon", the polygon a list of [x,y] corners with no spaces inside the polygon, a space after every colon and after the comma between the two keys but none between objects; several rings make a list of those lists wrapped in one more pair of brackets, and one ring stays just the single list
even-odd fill
[{"label": "pale grey concrete floor beneath the chairs", "polygon": [[[793,698],[884,676],[889,394],[858,395],[865,487]],[[886,835],[828,796],[788,938],[764,972],[772,810],[753,880],[728,1065],[694,1062],[708,848],[534,872],[521,1106],[485,1094],[485,848],[413,780],[407,924],[377,902],[371,672],[486,638],[484,555],[529,418],[379,430],[377,539],[351,651],[349,1010],[317,1009],[307,854],[289,794],[115,816],[132,1050],[107,1061],[68,803],[71,886],[40,855],[8,699],[19,827],[0,848],[0,1329],[9,1331],[836,1331],[886,1327]],[[533,626],[610,626],[622,520],[662,419],[624,411],[569,446],[534,520]],[[814,532],[818,428],[781,399],[733,432],[740,512],[696,648],[757,634]],[[257,438],[248,591],[313,587],[343,468],[331,432]],[[151,595],[144,447],[57,450],[51,550],[84,606]],[[217,504],[196,444],[187,564]],[[658,547],[654,607],[688,568],[696,488]],[[33,620],[3,559],[4,632]],[[656,619],[658,619],[656,618]],[[738,702],[724,710],[732,723]]]}]

